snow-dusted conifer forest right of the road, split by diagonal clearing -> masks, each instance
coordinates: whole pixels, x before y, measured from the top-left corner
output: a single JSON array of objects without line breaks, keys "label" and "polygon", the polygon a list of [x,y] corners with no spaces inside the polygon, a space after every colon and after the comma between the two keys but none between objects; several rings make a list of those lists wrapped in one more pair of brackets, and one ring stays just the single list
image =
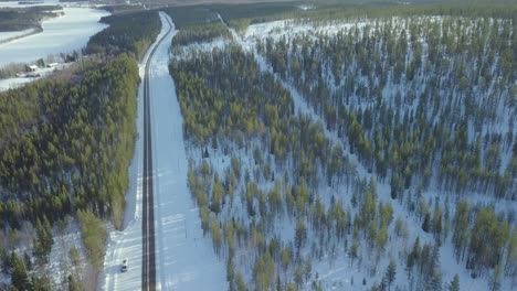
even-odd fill
[{"label": "snow-dusted conifer forest right of the road, split by diagonal clearing", "polygon": [[231,290],[516,288],[515,17],[392,12],[172,41]]}]

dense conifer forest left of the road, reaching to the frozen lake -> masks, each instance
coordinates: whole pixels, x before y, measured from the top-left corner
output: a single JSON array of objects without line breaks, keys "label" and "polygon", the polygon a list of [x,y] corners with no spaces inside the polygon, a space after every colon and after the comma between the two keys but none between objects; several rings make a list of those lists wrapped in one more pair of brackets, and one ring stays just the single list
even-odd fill
[{"label": "dense conifer forest left of the road, reaching to the frozen lake", "polygon": [[[96,288],[106,222],[122,227],[137,138],[137,61],[161,24],[157,11],[103,21],[109,26],[89,40],[87,57],[0,93],[0,271],[10,278],[0,289]],[[71,219],[83,246],[70,250],[73,268],[56,284],[45,268]]]}]

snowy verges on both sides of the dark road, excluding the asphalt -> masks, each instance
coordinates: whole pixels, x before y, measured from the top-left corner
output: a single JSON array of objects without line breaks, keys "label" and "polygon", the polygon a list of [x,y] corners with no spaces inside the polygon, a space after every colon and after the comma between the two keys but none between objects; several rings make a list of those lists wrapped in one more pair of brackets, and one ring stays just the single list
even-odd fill
[{"label": "snowy verges on both sides of the dark road, excluding the asphalt", "polygon": [[[168,17],[160,13],[160,18],[163,28],[158,39],[168,29]],[[150,69],[157,289],[226,290],[224,262],[215,257],[209,237],[203,237],[199,212],[187,186],[182,117],[168,71],[169,46],[175,34],[172,31],[159,44]],[[147,56],[143,64],[146,61]],[[141,77],[143,74],[144,65],[140,65]],[[141,88],[139,96],[138,131],[141,132]],[[99,284],[103,290],[138,290],[141,285],[141,138],[143,134],[130,169],[125,229],[109,235]],[[129,270],[120,273],[124,259],[128,259]]]}]

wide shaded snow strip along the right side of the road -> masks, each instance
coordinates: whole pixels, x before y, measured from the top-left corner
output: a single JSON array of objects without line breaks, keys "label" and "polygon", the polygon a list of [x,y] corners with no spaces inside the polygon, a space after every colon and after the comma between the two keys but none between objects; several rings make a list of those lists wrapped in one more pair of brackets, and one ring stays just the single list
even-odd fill
[{"label": "wide shaded snow strip along the right side of the road", "polygon": [[175,34],[158,47],[150,72],[157,289],[228,290],[224,260],[217,258],[210,238],[203,237],[187,186],[183,120],[168,69]]}]

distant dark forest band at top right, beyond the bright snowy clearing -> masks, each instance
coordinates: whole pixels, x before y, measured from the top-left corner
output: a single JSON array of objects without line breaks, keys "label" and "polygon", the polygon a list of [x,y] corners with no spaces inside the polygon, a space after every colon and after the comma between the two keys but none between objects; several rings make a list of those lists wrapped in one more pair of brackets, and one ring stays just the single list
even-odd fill
[{"label": "distant dark forest band at top right, beyond the bright snowy clearing", "polygon": [[[414,1],[413,1],[414,2]],[[462,1],[442,1],[441,3],[397,3],[393,1],[331,1],[318,3],[315,9],[300,10],[295,4],[289,3],[256,3],[256,9],[247,9],[246,6],[229,4],[221,9],[215,6],[214,10],[221,13],[224,21],[236,29],[245,31],[250,24],[266,21],[293,19],[298,23],[320,22],[335,23],[336,21],[357,19],[380,19],[391,17],[418,17],[418,15],[441,15],[441,17],[466,17],[466,18],[505,18],[515,19],[517,6],[511,0],[469,1],[468,4]],[[275,7],[276,6],[276,7]],[[222,9],[224,7],[224,9]]]}]

